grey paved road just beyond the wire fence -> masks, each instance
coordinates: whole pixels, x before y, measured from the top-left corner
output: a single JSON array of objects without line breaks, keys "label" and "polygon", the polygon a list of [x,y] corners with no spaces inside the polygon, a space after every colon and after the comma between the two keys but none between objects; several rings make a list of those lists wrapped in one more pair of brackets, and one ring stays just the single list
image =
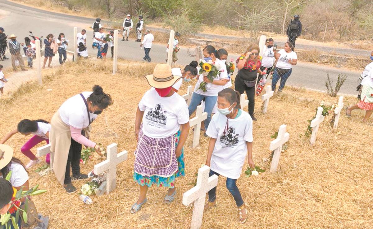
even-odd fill
[{"label": "grey paved road just beyond the wire fence", "polygon": [[[28,6],[22,6],[6,0],[0,0],[0,27],[6,30],[6,34],[14,33],[18,36],[19,41],[23,37],[28,36],[28,31],[34,32],[36,36],[46,36],[48,33],[53,33],[58,36],[60,32],[65,33],[66,38],[73,42],[73,27],[77,26],[78,30],[87,29],[87,46],[90,55],[95,55],[97,49],[92,49],[92,30],[89,26],[94,20],[85,17],[70,16],[45,10],[34,9]],[[72,43],[71,43],[72,44]],[[72,51],[72,45],[68,46],[68,50]],[[123,59],[131,59],[141,61],[144,56],[144,51],[140,49],[140,45],[134,41],[119,42],[118,46],[119,57]],[[190,52],[189,52],[190,53]],[[110,54],[109,54],[110,55]],[[57,55],[58,56],[58,55]],[[153,44],[150,56],[153,62],[165,62],[166,46]],[[188,55],[188,49],[182,48],[179,53],[178,64],[189,64],[194,60]],[[229,58],[236,58],[230,55]],[[10,61],[2,61],[5,66],[10,65]],[[325,67],[317,64],[309,64],[300,62],[293,68],[293,73],[288,80],[288,85],[302,86],[306,88],[325,90],[326,74],[329,73],[332,79],[336,79],[338,74],[347,74],[348,78],[344,86],[341,88],[341,93],[355,94],[357,86],[357,78],[360,75],[358,71],[346,71],[338,68]]]}]

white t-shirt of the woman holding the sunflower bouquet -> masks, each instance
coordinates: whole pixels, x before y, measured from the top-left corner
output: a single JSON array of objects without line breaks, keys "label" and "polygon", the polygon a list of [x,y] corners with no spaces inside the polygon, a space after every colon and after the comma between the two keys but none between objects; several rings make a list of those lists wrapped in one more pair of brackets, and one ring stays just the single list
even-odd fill
[{"label": "white t-shirt of the woman holding the sunflower bouquet", "polygon": [[[227,67],[226,67],[225,63],[223,63],[223,61],[221,61],[220,59],[216,59],[215,60],[215,65],[217,66],[217,70],[219,70],[221,72],[219,72],[218,76],[215,77],[214,80],[222,80],[222,79],[228,78]],[[198,69],[198,71],[199,71],[199,69]],[[195,84],[195,87],[194,87],[194,92],[195,93],[200,94],[200,95],[204,95],[204,96],[217,96],[217,93],[219,93],[219,91],[222,90],[221,85],[216,85],[216,84],[213,84],[213,83],[207,83],[206,84],[206,90],[207,91],[203,92],[203,90],[198,89],[202,82],[203,82],[203,74],[201,74],[199,76],[198,81]]]}]

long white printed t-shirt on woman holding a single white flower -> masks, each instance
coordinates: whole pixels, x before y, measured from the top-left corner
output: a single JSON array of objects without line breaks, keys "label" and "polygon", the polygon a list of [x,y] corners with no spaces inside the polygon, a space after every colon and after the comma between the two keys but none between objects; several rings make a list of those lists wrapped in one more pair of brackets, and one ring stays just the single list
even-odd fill
[{"label": "long white printed t-shirt on woman holding a single white flower", "polygon": [[247,155],[246,142],[253,142],[253,120],[241,110],[236,119],[216,113],[211,119],[206,134],[216,139],[211,156],[211,170],[231,179],[238,179]]}]

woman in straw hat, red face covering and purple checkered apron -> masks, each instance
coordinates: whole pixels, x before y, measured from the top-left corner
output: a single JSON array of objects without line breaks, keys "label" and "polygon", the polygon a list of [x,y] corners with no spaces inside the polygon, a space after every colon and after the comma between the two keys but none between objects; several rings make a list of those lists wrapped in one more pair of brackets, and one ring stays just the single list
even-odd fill
[{"label": "woman in straw hat, red face covering and purple checkered apron", "polygon": [[[136,112],[134,180],[140,196],[131,207],[138,212],[147,201],[150,186],[167,187],[165,203],[175,200],[175,178],[184,176],[183,146],[189,133],[185,100],[171,90],[180,76],[172,75],[168,64],[157,64],[145,78],[152,87],[142,97]],[[181,128],[181,130],[180,130]]]}]

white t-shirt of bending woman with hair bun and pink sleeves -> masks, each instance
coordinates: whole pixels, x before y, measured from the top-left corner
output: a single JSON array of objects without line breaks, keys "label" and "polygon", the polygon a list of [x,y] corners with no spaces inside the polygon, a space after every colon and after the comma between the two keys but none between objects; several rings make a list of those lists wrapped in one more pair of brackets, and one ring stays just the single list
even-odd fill
[{"label": "white t-shirt of bending woman with hair bun and pink sleeves", "polygon": [[[92,91],[82,92],[84,98],[87,100],[92,94]],[[84,129],[89,125],[87,107],[85,106],[83,98],[77,94],[66,100],[59,109],[60,117],[64,123],[76,129]],[[90,112],[91,122],[97,118],[97,114]]]}]

